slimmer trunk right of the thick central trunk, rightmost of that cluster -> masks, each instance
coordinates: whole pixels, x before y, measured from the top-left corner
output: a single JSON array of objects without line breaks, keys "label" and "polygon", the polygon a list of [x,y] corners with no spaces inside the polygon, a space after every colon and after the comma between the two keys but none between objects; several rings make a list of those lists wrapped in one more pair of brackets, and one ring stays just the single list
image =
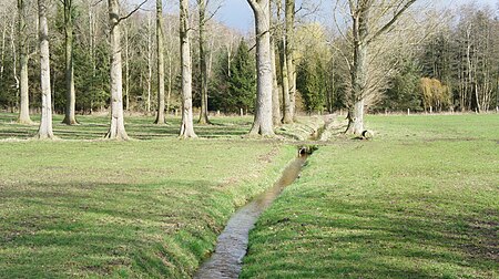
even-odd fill
[{"label": "slimmer trunk right of the thick central trunk, rightmost of that cluster", "polygon": [[289,113],[291,120],[295,118],[296,110],[296,70],[295,70],[295,0],[285,1],[285,37],[286,46],[284,48],[286,52],[286,64],[287,64],[287,80],[289,86]]}]

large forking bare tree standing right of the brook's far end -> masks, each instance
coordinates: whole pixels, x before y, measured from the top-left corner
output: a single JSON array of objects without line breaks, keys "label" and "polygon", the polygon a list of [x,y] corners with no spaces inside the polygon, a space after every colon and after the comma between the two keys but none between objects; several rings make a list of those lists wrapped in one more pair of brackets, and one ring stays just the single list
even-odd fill
[{"label": "large forking bare tree standing right of the brook's far end", "polygon": [[416,0],[348,0],[352,18],[350,93],[348,96],[347,133],[364,132],[366,99],[377,89],[369,84],[369,50],[381,34],[390,31],[397,20]]}]

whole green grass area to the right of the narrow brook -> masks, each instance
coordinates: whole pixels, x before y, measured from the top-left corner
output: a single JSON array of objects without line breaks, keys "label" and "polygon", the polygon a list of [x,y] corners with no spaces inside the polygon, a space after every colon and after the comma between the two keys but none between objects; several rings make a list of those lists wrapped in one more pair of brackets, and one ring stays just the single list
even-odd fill
[{"label": "whole green grass area to the right of the narrow brook", "polygon": [[243,278],[497,278],[499,116],[370,116],[251,234]]}]

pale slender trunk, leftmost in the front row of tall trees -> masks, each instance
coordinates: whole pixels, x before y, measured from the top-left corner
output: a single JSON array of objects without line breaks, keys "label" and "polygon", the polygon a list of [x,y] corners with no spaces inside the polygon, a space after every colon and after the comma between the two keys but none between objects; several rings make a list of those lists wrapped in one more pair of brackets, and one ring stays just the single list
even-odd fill
[{"label": "pale slender trunk, leftmost in the front row of tall trees", "polygon": [[52,132],[52,101],[50,90],[50,51],[49,24],[47,22],[47,0],[38,0],[38,17],[40,22],[40,76],[42,91],[42,113],[37,137],[53,138]]}]

